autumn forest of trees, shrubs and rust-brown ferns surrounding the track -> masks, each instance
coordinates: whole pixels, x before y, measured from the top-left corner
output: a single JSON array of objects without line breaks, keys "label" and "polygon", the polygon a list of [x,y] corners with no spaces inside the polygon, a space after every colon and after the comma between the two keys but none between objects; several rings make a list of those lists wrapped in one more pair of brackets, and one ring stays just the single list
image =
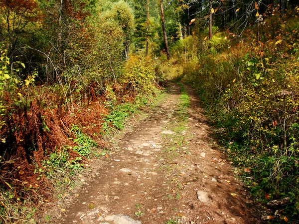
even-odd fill
[{"label": "autumn forest of trees, shrubs and rust-brown ferns surrounding the track", "polygon": [[297,0],[0,0],[0,223],[34,223],[169,80],[255,202],[298,223],[298,49]]}]

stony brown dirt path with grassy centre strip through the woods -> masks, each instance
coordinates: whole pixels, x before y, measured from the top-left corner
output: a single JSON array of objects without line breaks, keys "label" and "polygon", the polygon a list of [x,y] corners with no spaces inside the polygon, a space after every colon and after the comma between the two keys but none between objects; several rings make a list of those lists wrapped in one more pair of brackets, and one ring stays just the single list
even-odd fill
[{"label": "stony brown dirt path with grassy centre strip through the woods", "polygon": [[253,224],[246,188],[215,148],[189,91],[183,121],[179,87],[125,133],[94,180],[62,213],[61,224]]}]

